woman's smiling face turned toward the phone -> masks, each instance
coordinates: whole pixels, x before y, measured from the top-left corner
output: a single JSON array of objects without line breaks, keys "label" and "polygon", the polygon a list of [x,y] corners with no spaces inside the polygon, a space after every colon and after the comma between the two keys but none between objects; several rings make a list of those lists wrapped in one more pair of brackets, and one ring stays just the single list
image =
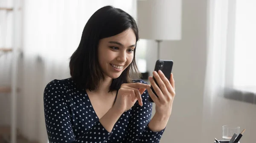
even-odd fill
[{"label": "woman's smiling face turned toward the phone", "polygon": [[136,46],[136,36],[129,28],[115,36],[99,40],[99,64],[105,78],[116,79],[131,64]]}]

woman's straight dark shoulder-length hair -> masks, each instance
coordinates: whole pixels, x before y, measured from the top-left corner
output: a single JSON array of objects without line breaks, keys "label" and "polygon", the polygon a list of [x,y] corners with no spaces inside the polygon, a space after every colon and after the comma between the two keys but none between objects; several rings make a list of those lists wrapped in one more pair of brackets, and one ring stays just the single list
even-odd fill
[{"label": "woman's straight dark shoulder-length hair", "polygon": [[[78,88],[98,90],[99,82],[105,80],[99,66],[98,44],[99,40],[122,33],[131,28],[139,39],[138,27],[133,17],[122,9],[105,6],[97,10],[87,21],[81,36],[78,48],[70,57],[70,75]],[[131,83],[132,79],[139,79],[134,58],[122,74],[112,80],[109,91],[118,90],[123,83]]]}]

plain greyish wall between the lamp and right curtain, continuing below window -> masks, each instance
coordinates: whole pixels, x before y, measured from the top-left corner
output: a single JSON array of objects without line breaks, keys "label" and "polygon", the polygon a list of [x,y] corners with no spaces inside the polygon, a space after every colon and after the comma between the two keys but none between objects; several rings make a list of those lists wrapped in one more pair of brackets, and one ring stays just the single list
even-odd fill
[{"label": "plain greyish wall between the lamp and right curtain, continuing below window", "polygon": [[[183,0],[182,40],[163,41],[160,59],[174,61],[176,97],[160,143],[213,143],[226,124],[247,129],[241,143],[255,143],[256,106],[204,95],[208,0]],[[147,69],[154,70],[157,44],[148,42]],[[153,111],[154,112],[154,111]]]}]

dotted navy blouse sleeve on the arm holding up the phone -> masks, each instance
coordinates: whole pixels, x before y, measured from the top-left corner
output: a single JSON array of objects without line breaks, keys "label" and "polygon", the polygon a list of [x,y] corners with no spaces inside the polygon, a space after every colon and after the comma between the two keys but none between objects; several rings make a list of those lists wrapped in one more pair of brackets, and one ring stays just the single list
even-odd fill
[{"label": "dotted navy blouse sleeve on the arm holding up the phone", "polygon": [[[144,82],[144,81],[143,81]],[[144,82],[145,83],[145,82]],[[151,120],[152,103],[148,101],[148,91],[142,94],[143,106],[137,104],[131,113],[127,143],[159,143],[165,129],[153,132],[148,128]]]}]

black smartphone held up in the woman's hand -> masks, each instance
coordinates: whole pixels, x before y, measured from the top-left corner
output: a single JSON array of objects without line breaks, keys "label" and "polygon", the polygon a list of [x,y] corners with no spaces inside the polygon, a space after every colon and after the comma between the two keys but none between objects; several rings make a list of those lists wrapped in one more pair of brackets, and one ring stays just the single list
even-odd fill
[{"label": "black smartphone held up in the woman's hand", "polygon": [[[173,65],[173,61],[172,60],[157,60],[156,64],[155,64],[155,68],[154,71],[158,72],[158,70],[161,70],[163,72],[163,74],[166,76],[167,79],[170,80],[171,78],[171,73],[172,73],[172,65]],[[157,84],[156,79],[153,76],[154,81]],[[159,85],[157,84],[157,86],[159,87]],[[154,88],[151,85],[151,90],[153,91],[153,93],[157,96],[157,93],[155,93]],[[157,96],[158,98],[158,96]],[[148,100],[150,102],[154,102],[150,96],[148,96]]]}]

